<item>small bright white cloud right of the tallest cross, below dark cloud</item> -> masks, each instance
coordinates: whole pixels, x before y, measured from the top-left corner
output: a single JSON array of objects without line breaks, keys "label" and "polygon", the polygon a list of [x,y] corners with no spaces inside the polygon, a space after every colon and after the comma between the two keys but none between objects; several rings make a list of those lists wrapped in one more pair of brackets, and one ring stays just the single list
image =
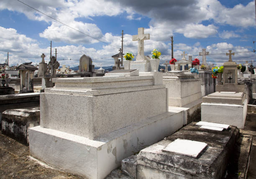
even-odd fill
[{"label": "small bright white cloud right of the tallest cross, below dark cloud", "polygon": [[202,24],[188,24],[185,28],[179,28],[177,33],[183,33],[187,38],[207,38],[210,35],[215,35],[217,27],[214,25],[202,25]]}]

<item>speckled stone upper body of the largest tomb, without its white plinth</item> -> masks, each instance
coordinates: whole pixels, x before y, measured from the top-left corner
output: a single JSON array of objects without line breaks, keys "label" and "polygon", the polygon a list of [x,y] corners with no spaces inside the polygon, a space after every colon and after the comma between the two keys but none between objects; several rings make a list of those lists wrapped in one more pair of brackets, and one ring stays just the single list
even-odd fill
[{"label": "speckled stone upper body of the largest tomb, without its white plinth", "polygon": [[[153,76],[86,79],[54,79],[59,87],[46,88],[40,95],[41,127],[95,139],[167,112],[167,90],[152,85]],[[118,88],[120,83],[129,87]],[[77,85],[99,89],[75,88]]]}]

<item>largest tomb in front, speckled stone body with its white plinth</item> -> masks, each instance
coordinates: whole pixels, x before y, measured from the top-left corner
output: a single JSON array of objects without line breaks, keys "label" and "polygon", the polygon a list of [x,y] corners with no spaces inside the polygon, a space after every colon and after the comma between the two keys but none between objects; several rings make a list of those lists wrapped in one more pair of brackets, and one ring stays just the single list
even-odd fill
[{"label": "largest tomb in front, speckled stone body with its white plinth", "polygon": [[[54,78],[40,95],[41,126],[30,128],[36,159],[89,179],[182,127],[154,76]],[[158,79],[159,80],[159,79]]]}]

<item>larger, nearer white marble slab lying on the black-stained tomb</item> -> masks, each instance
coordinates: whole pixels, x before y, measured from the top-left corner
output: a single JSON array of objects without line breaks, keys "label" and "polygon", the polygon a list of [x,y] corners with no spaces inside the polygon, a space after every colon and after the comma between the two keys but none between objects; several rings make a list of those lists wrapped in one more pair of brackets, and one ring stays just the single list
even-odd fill
[{"label": "larger, nearer white marble slab lying on the black-stained tomb", "polygon": [[176,139],[164,149],[162,149],[162,151],[174,152],[177,154],[197,158],[197,156],[205,149],[206,146],[207,144],[204,142]]}]

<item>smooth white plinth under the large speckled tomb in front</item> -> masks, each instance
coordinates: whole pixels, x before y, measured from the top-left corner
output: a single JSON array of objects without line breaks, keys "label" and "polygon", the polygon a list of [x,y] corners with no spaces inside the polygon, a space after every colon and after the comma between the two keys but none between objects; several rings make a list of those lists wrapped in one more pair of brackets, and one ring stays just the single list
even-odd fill
[{"label": "smooth white plinth under the large speckled tomb in front", "polygon": [[28,129],[30,154],[82,177],[103,179],[122,159],[180,129],[182,117],[182,112],[167,112],[94,140],[36,126]]}]

